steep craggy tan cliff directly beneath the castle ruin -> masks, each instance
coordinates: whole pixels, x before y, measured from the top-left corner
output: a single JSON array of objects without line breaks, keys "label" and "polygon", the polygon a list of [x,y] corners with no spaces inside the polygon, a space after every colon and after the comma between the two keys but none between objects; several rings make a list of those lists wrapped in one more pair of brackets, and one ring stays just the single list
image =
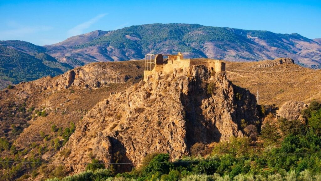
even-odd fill
[{"label": "steep craggy tan cliff directly beneath the castle ruin", "polygon": [[[188,155],[196,142],[242,137],[241,119],[248,124],[258,119],[255,104],[248,90],[224,73],[211,76],[204,66],[154,75],[95,105],[61,148],[71,154],[56,161],[84,163],[92,156],[108,166],[139,163],[150,153],[169,153],[174,160]],[[78,173],[84,165],[68,168]]]}]

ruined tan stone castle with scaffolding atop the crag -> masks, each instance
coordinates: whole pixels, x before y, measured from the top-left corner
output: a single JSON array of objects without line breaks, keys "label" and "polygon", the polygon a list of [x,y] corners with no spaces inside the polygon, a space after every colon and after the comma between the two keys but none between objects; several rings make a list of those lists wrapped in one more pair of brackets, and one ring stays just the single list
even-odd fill
[{"label": "ruined tan stone castle with scaffolding atop the crag", "polygon": [[[164,57],[168,57],[164,59]],[[210,71],[225,72],[225,63],[220,60],[208,58],[184,59],[183,54],[178,52],[177,55],[167,54],[147,54],[145,55],[144,81],[149,76],[160,72],[171,72],[174,69],[192,69],[194,65],[204,65]]]}]

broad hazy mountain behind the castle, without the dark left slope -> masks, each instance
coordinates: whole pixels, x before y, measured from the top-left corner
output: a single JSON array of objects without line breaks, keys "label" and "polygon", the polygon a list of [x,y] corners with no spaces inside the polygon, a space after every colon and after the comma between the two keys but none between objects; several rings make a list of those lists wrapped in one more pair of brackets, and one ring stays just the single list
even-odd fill
[{"label": "broad hazy mountain behind the castle, without the dark left slope", "polygon": [[321,44],[297,33],[241,30],[199,24],[144,24],[99,31],[45,46],[48,54],[89,62],[142,59],[146,53],[183,52],[185,57],[259,61],[290,57],[320,68]]}]

